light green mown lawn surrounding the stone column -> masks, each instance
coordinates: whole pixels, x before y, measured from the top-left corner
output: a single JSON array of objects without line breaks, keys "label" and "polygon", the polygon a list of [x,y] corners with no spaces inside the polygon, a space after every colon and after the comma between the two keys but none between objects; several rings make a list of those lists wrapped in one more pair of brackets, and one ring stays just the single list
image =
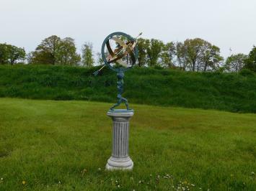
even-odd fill
[{"label": "light green mown lawn surrounding the stone column", "polygon": [[106,172],[110,103],[0,98],[0,190],[256,190],[256,115],[134,105],[132,172]]}]

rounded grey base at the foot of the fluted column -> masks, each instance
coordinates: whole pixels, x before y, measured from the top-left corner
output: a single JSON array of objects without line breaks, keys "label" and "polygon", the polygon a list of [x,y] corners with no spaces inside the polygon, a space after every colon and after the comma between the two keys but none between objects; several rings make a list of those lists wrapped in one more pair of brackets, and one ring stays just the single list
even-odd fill
[{"label": "rounded grey base at the foot of the fluted column", "polygon": [[131,170],[133,169],[133,161],[130,157],[126,157],[123,159],[118,159],[115,157],[110,157],[107,160],[106,164],[107,170]]}]

